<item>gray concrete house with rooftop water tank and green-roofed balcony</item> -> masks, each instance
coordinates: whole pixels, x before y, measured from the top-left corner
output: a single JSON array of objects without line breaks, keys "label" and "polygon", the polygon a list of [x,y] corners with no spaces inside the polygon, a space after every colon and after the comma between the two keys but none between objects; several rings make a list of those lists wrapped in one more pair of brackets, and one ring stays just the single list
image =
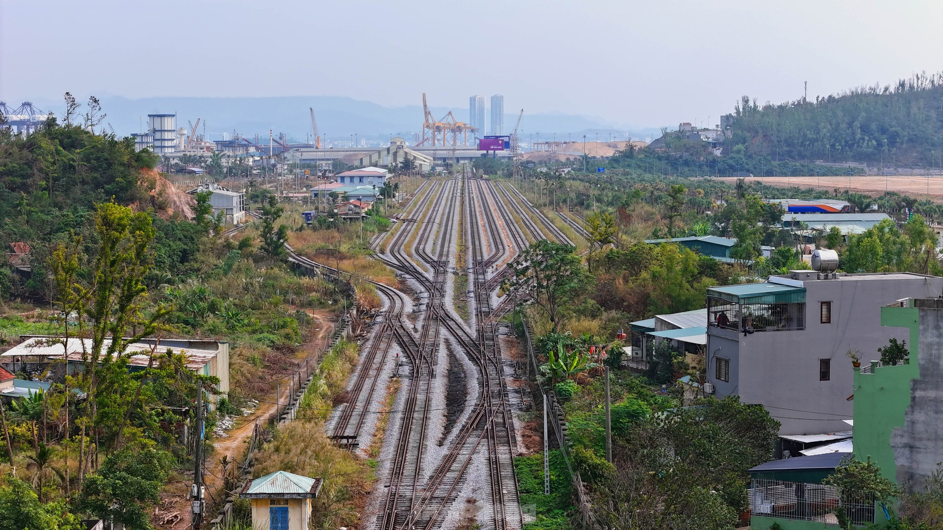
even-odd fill
[{"label": "gray concrete house with rooftop water tank and green-roofed balcony", "polygon": [[916,273],[793,271],[710,288],[705,391],[766,406],[782,435],[846,431],[854,393],[846,353],[875,358],[887,340],[908,339],[881,325],[881,307],[941,293],[943,278]]}]

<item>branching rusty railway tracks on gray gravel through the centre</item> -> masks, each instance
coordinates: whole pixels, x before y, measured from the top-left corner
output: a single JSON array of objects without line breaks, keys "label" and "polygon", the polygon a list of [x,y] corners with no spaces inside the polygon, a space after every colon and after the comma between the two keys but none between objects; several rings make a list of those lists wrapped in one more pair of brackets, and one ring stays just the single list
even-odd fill
[{"label": "branching rusty railway tracks on gray gravel through the centre", "polygon": [[[443,522],[452,521],[449,513],[458,498],[471,498],[467,487],[478,491],[473,495],[488,506],[478,514],[483,528],[521,528],[513,465],[517,441],[505,385],[514,369],[504,361],[498,340],[500,319],[513,301],[505,297],[495,302],[494,292],[510,270],[505,265],[528,246],[528,236],[570,240],[516,191],[472,178],[467,171],[458,178],[426,181],[399,228],[373,243],[375,257],[416,291],[420,316],[415,325],[408,323],[407,295],[373,283],[386,304],[348,384],[350,399],[340,406],[331,428],[348,448],[366,441],[362,439],[364,419],[382,389],[377,381],[389,365],[389,352],[398,347],[405,374],[395,406],[397,416],[391,419],[386,437],[389,457],[381,468],[385,489],[378,490],[375,525],[382,530],[438,530]],[[521,212],[520,226],[510,209],[518,207],[531,211],[531,215]],[[463,222],[457,223],[458,219]],[[470,249],[466,263],[454,261],[459,230]],[[380,252],[383,242],[386,251]],[[289,259],[302,267],[349,278],[290,248]],[[471,319],[459,317],[452,307],[451,278],[459,271],[470,279]],[[477,392],[468,409],[459,414],[459,423],[439,441],[442,448],[430,453],[431,414],[438,410],[432,406],[433,397],[441,391],[433,382],[446,343],[455,344],[459,355],[472,363]]]}]

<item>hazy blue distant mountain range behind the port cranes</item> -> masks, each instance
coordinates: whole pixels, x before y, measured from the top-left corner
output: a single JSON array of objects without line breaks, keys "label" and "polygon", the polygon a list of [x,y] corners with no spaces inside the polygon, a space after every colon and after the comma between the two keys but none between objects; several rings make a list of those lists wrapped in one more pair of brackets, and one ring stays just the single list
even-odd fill
[{"label": "hazy blue distant mountain range behind the port cranes", "polygon": [[[378,139],[392,135],[402,135],[410,140],[411,133],[422,131],[422,106],[388,108],[368,101],[357,101],[349,97],[336,96],[298,96],[298,97],[150,97],[127,99],[121,96],[102,96],[102,107],[108,114],[105,122],[111,124],[121,136],[147,128],[147,115],[155,113],[176,113],[177,127],[189,127],[188,122],[196,123],[202,118],[199,133],[206,124],[207,139],[218,140],[222,133],[238,132],[243,136],[268,137],[269,129],[274,134],[283,132],[293,141],[306,141],[311,132],[311,119],[308,108],[314,108],[318,129],[329,141],[349,139],[351,135],[360,138]],[[44,110],[61,114],[60,102],[34,102]],[[430,108],[436,118],[444,116],[449,110],[458,121],[468,121],[468,107]],[[139,118],[140,117],[140,118]],[[517,114],[505,115],[505,134],[517,121]],[[528,114],[521,119],[522,138],[525,135],[539,133],[541,141],[566,140],[569,133],[572,140],[595,140],[599,133],[600,140],[614,137],[623,139],[626,134],[632,138],[648,138],[657,133],[657,128],[630,130],[619,124],[606,123],[604,120],[571,114]],[[657,136],[657,135],[655,135]],[[527,136],[529,138],[529,136]],[[535,138],[535,141],[537,138]]]}]

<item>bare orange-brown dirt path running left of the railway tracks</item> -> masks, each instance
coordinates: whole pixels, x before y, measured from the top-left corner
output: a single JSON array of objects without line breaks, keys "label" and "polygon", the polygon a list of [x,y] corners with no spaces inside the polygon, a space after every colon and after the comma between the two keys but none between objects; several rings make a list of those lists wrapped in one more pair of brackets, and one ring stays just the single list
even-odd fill
[{"label": "bare orange-brown dirt path running left of the railway tracks", "polygon": [[[330,340],[331,330],[334,326],[334,315],[329,311],[323,309],[306,309],[306,312],[313,320],[311,330],[314,333],[312,333],[311,338],[306,340],[298,349],[298,360],[302,362],[305,361],[307,357],[314,356],[317,352],[320,352],[327,345]],[[286,384],[280,386],[278,403],[288,403],[291,399],[289,393],[290,389],[287,384],[288,379],[289,376],[287,375],[284,379]],[[274,396],[267,396],[265,401],[268,403],[260,403],[251,414],[235,418],[232,428],[225,431],[226,436],[216,437],[216,439],[213,440],[213,454],[210,456],[210,459],[207,459],[205,468],[206,477],[204,480],[207,485],[207,497],[209,496],[209,492],[212,492],[214,498],[221,498],[218,490],[223,487],[223,455],[230,461],[240,461],[242,459],[247,443],[252,437],[254,430],[253,425],[255,425],[256,422],[265,424],[275,413],[275,403],[273,403],[274,400],[272,400],[272,397]],[[192,477],[190,477],[190,479],[192,479]],[[227,495],[223,495],[222,498],[226,496]],[[179,521],[170,525],[161,525],[158,524],[157,521],[152,521],[156,528],[163,530],[186,530],[190,528],[190,501],[178,493],[162,495],[161,500],[161,504],[166,506],[160,508],[161,514],[176,512],[181,517]],[[208,514],[205,521],[212,520],[215,517],[216,514]]]}]

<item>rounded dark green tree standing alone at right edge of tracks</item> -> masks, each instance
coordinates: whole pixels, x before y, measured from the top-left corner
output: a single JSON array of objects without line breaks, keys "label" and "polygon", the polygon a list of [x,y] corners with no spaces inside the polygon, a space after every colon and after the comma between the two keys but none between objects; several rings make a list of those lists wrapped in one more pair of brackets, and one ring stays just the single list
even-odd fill
[{"label": "rounded dark green tree standing alone at right edge of tracks", "polygon": [[592,281],[575,251],[572,245],[538,240],[521,253],[505,284],[519,296],[530,296],[547,313],[554,331],[563,307]]}]

